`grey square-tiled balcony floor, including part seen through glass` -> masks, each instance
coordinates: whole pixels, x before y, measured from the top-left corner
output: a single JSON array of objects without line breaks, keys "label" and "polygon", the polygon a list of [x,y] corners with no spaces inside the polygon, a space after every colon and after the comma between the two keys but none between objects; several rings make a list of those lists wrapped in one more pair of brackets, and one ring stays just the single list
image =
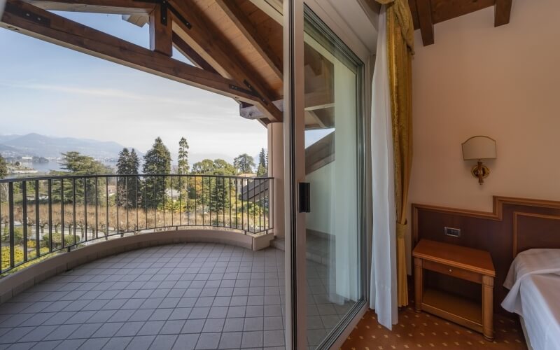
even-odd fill
[{"label": "grey square-tiled balcony floor, including part seen through glass", "polygon": [[[130,251],[0,305],[0,349],[283,349],[284,252],[224,244]],[[308,264],[308,343],[346,312]]]}]

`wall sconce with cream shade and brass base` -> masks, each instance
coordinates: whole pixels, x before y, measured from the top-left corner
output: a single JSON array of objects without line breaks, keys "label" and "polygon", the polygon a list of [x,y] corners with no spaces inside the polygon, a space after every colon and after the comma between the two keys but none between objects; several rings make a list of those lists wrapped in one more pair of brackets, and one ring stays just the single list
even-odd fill
[{"label": "wall sconce with cream shade and brass base", "polygon": [[482,160],[489,159],[496,159],[496,140],[487,136],[473,136],[463,142],[463,160],[477,160],[477,165],[470,172],[478,178],[480,185],[490,174],[490,169],[482,164]]}]

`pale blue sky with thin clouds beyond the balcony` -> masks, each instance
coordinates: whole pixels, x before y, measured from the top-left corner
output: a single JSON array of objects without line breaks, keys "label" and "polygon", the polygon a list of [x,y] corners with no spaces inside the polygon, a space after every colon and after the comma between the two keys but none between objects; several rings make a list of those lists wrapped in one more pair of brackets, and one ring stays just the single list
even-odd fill
[{"label": "pale blue sky with thin clouds beyond the balcony", "polygon": [[[120,15],[58,13],[148,47],[148,26]],[[179,53],[174,58],[188,62]],[[161,137],[176,161],[186,137],[190,163],[232,162],[267,148],[267,130],[239,116],[229,97],[0,29],[0,134],[116,141],[146,152]]]}]

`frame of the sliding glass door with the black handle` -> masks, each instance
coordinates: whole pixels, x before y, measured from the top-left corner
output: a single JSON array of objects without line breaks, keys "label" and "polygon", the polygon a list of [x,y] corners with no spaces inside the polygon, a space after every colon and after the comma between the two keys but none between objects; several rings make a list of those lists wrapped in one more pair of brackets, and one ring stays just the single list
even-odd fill
[{"label": "frame of the sliding glass door with the black handle", "polygon": [[[304,0],[283,1],[284,43],[284,171],[286,200],[286,349],[307,348],[307,279],[306,279],[306,225],[305,215],[300,213],[298,203],[299,183],[305,181],[304,146],[304,19],[313,22],[337,48],[342,49],[358,65],[356,73],[358,95],[358,254],[361,297],[342,318],[335,330],[323,340],[321,349],[340,346],[349,332],[349,325],[357,322],[367,309],[367,235],[366,208],[368,153],[365,118],[365,63],[352,52],[321,18],[307,6]],[[344,337],[341,337],[344,336]]]}]

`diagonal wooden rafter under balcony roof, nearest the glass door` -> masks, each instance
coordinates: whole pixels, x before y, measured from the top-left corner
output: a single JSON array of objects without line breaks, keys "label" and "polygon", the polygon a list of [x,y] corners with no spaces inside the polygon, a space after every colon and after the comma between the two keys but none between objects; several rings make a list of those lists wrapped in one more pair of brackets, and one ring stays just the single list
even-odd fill
[{"label": "diagonal wooden rafter under balcony roof, nearest the glass door", "polygon": [[239,8],[236,1],[232,0],[216,0],[218,6],[222,8],[228,18],[235,24],[235,27],[247,38],[249,43],[255,48],[262,59],[276,73],[276,76],[283,79],[283,63],[280,57],[276,55],[274,50],[267,42],[267,38],[259,34],[258,29],[249,20],[246,13]]}]

